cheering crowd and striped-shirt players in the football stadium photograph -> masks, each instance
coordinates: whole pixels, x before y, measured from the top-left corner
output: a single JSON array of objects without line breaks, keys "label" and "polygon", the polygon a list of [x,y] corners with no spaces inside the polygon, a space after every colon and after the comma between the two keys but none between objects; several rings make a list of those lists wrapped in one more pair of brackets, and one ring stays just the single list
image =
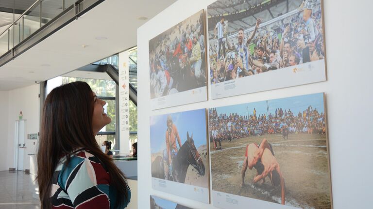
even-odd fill
[{"label": "cheering crowd and striped-shirt players in the football stadium photograph", "polygon": [[257,19],[249,32],[229,33],[222,16],[209,38],[211,84],[324,59],[320,0],[305,0],[297,11],[264,26]]}]

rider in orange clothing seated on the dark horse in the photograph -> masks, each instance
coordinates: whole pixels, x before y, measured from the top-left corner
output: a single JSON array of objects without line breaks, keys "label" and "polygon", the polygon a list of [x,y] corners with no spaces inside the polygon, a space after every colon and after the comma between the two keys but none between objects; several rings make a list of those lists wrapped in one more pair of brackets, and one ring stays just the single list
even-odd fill
[{"label": "rider in orange clothing seated on the dark horse in the photograph", "polygon": [[181,139],[179,136],[179,132],[175,124],[172,123],[171,116],[167,116],[167,130],[166,130],[166,150],[167,153],[163,152],[163,167],[165,169],[165,179],[169,179],[169,173],[172,172],[171,163],[172,158],[176,156],[177,151],[179,150],[176,146],[176,140],[179,144],[179,149],[181,148]]}]

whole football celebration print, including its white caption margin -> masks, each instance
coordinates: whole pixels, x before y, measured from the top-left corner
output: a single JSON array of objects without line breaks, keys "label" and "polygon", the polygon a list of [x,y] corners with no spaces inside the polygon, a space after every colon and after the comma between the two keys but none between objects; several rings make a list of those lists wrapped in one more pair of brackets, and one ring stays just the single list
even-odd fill
[{"label": "whole football celebration print, including its white caption margin", "polygon": [[326,80],[322,0],[207,7],[213,99]]}]

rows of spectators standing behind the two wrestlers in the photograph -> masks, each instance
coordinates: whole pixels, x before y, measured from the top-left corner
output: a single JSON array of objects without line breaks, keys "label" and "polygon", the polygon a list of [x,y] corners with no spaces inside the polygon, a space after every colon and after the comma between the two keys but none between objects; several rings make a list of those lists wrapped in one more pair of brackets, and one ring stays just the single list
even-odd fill
[{"label": "rows of spectators standing behind the two wrestlers in the photograph", "polygon": [[232,141],[249,136],[282,134],[284,129],[289,134],[325,134],[326,132],[325,114],[312,106],[295,115],[290,109],[282,108],[277,108],[269,115],[256,114],[255,108],[251,115],[219,114],[216,108],[212,108],[209,109],[208,119],[210,141],[214,144],[216,141]]}]

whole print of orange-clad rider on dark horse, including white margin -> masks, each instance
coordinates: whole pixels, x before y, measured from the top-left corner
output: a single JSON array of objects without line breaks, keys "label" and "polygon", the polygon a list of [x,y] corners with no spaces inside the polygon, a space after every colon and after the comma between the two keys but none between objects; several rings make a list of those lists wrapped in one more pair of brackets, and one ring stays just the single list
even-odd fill
[{"label": "whole print of orange-clad rider on dark horse, including white margin", "polygon": [[206,110],[150,118],[153,189],[209,203]]}]

